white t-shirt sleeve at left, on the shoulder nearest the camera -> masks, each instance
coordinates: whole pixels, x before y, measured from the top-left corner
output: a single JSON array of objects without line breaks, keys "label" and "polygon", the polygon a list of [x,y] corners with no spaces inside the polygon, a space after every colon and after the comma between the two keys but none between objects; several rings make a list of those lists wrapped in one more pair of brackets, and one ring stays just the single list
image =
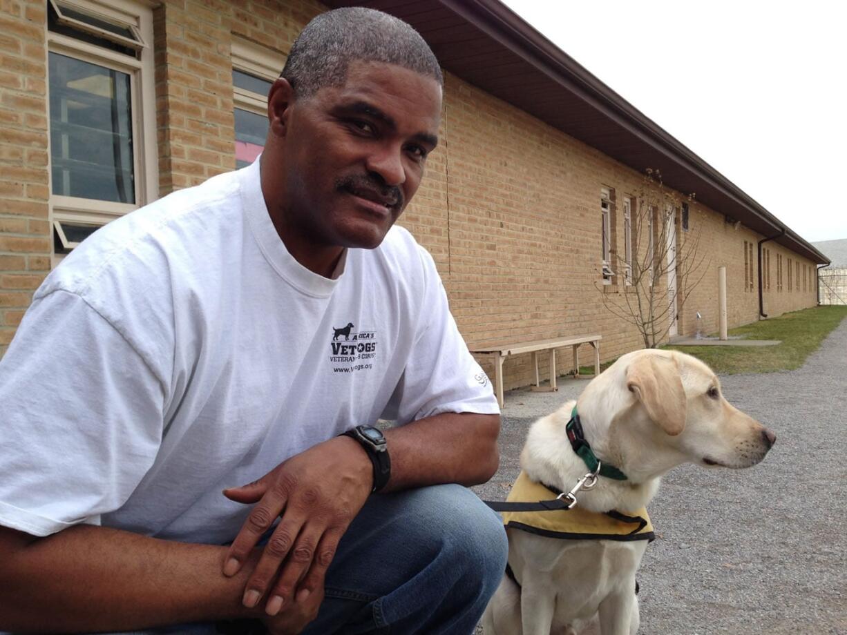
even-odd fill
[{"label": "white t-shirt sleeve at left, on the shoulder nearest the camera", "polygon": [[163,382],[79,295],[36,300],[0,362],[0,525],[99,524],[152,465]]}]

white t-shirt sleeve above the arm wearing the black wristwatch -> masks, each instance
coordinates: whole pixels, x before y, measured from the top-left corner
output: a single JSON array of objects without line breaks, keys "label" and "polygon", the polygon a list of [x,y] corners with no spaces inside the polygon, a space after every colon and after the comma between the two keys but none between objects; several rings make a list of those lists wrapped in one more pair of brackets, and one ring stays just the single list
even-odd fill
[{"label": "white t-shirt sleeve above the arm wearing the black wristwatch", "polygon": [[435,262],[424,262],[424,298],[412,354],[383,418],[410,422],[443,412],[499,414],[491,382],[468,352]]}]

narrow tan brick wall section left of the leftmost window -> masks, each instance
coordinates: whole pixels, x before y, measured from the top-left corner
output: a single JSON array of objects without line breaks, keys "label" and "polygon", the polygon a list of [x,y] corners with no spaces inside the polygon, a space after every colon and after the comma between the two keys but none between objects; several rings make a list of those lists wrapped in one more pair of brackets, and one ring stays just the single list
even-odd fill
[{"label": "narrow tan brick wall section left of the leftmost window", "polygon": [[0,355],[50,268],[43,2],[0,2]]}]

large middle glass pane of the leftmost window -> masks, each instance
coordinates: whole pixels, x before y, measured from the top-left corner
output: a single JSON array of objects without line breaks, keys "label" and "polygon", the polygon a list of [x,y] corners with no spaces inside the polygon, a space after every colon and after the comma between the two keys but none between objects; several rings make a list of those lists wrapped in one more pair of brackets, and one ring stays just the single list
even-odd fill
[{"label": "large middle glass pane of the leftmost window", "polygon": [[49,53],[53,194],[135,203],[130,75]]}]

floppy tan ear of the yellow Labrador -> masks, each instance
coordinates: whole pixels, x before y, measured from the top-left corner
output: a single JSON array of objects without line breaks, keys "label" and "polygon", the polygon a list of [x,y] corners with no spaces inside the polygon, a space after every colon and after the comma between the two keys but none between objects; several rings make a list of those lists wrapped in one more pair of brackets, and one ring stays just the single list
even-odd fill
[{"label": "floppy tan ear of the yellow Labrador", "polygon": [[672,357],[638,356],[627,368],[627,389],[644,404],[647,414],[671,436],[685,428],[685,390]]}]

